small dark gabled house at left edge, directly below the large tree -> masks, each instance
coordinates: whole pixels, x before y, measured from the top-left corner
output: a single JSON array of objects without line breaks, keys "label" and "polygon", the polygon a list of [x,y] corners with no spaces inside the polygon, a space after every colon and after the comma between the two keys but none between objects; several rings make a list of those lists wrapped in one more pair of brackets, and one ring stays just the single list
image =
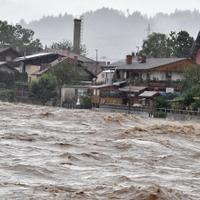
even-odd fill
[{"label": "small dark gabled house at left edge, directly below the large tree", "polygon": [[20,53],[12,47],[0,48],[0,61],[12,62]]}]

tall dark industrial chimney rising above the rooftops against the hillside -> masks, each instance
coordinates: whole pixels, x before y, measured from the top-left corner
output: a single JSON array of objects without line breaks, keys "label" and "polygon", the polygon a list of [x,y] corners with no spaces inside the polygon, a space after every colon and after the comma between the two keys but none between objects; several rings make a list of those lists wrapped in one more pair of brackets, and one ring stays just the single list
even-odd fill
[{"label": "tall dark industrial chimney rising above the rooftops against the hillside", "polygon": [[82,23],[81,19],[74,19],[74,43],[73,43],[73,50],[77,54],[80,54],[81,23]]}]

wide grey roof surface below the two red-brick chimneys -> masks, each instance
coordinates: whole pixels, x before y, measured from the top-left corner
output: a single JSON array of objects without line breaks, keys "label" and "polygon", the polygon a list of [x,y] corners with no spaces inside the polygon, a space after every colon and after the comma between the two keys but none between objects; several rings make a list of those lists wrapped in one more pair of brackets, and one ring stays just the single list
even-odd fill
[{"label": "wide grey roof surface below the two red-brick chimneys", "polygon": [[137,60],[133,61],[132,64],[126,64],[125,60],[121,60],[116,63],[112,63],[110,66],[116,66],[116,69],[121,70],[151,70],[160,66],[172,64],[187,60],[188,58],[148,58],[146,63],[140,63]]}]

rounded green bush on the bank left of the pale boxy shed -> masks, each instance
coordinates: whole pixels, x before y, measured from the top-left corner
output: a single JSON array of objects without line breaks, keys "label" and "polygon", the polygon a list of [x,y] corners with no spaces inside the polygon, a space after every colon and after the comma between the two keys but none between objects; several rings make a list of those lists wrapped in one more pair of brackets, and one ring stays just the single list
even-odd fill
[{"label": "rounded green bush on the bank left of the pale boxy shed", "polygon": [[38,81],[31,84],[31,95],[42,104],[45,104],[51,98],[56,97],[56,89],[56,77],[51,74],[44,74]]}]

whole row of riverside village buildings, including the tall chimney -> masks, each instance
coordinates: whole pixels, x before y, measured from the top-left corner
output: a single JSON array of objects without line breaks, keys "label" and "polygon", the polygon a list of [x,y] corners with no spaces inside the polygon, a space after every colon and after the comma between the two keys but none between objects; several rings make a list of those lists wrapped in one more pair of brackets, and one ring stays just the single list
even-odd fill
[{"label": "whole row of riverside village buildings, including the tall chimney", "polygon": [[28,98],[34,81],[62,68],[63,80],[58,80],[61,105],[79,105],[81,99],[90,97],[95,107],[153,107],[159,95],[178,93],[185,71],[200,64],[200,33],[188,58],[147,58],[131,53],[114,63],[93,60],[80,54],[80,22],[74,20],[75,51],[46,48],[21,56],[11,47],[0,48],[0,82],[12,83],[17,97]]}]

